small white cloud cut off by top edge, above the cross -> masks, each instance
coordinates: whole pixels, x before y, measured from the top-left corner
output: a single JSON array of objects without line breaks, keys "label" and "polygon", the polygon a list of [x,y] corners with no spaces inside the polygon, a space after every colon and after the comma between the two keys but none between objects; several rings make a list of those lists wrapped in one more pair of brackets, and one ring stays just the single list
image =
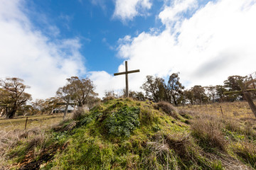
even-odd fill
[{"label": "small white cloud cut off by top edge, above the cross", "polygon": [[131,21],[135,16],[144,15],[151,6],[150,0],[115,0],[114,17]]}]

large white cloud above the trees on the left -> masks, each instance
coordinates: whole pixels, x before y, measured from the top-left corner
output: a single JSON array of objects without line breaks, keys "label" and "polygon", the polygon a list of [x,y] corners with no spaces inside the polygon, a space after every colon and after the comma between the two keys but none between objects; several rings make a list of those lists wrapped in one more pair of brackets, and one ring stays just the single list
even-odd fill
[{"label": "large white cloud above the trees on the left", "polygon": [[[65,79],[85,73],[78,38],[52,41],[21,9],[24,1],[0,0],[0,78],[19,77],[33,98],[55,95]],[[58,28],[53,28],[53,34]]]}]

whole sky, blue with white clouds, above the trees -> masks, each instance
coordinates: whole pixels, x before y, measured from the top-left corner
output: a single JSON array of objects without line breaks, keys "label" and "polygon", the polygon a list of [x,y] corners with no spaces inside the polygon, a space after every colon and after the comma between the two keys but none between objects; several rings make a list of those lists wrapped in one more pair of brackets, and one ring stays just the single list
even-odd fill
[{"label": "whole sky, blue with white clouds, above the trees", "polygon": [[187,87],[255,72],[255,0],[0,0],[0,78],[20,77],[33,98],[55,95],[71,76],[100,97],[146,75],[180,72]]}]

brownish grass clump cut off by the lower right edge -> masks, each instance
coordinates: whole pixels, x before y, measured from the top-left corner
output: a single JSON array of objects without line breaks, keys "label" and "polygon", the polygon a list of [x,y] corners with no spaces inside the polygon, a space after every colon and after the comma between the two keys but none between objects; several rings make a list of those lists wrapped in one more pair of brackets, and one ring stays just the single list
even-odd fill
[{"label": "brownish grass clump cut off by the lower right edge", "polygon": [[233,152],[240,157],[243,162],[250,164],[256,169],[256,146],[252,142],[240,142],[233,146]]}]

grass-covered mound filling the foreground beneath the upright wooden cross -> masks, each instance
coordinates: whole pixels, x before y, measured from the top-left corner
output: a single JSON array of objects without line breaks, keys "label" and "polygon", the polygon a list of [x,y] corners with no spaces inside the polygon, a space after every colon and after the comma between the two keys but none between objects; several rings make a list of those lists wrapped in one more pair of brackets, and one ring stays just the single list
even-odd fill
[{"label": "grass-covered mound filling the foreground beneath the upright wooden cross", "polygon": [[1,157],[10,169],[256,169],[253,123],[119,98],[28,130]]}]

